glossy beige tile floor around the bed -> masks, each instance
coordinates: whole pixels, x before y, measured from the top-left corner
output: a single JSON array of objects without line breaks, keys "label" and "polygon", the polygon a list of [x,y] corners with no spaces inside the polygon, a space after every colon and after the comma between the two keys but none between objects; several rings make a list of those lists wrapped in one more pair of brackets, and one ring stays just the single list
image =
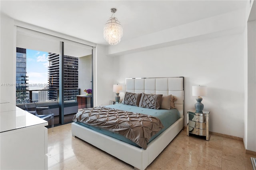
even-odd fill
[{"label": "glossy beige tile floor around the bed", "polygon": [[[49,170],[133,170],[98,148],[74,138],[71,124],[48,129]],[[181,131],[147,170],[252,170],[243,142],[220,136],[210,140]]]}]

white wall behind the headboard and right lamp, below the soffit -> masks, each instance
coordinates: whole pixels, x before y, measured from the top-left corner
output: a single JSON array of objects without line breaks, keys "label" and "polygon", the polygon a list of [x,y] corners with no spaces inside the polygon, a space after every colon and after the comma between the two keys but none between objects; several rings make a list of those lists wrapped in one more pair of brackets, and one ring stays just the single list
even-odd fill
[{"label": "white wall behind the headboard and right lamp, below the soffit", "polygon": [[[244,37],[235,34],[113,57],[119,80],[136,77],[185,78],[185,110],[194,108],[193,85],[206,85],[210,131],[243,137]],[[186,117],[185,117],[186,119]],[[186,120],[185,120],[186,122]]]}]

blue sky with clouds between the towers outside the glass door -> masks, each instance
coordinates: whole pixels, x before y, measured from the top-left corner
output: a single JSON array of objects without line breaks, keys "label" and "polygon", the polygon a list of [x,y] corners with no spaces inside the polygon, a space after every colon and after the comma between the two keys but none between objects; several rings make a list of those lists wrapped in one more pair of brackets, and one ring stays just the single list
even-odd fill
[{"label": "blue sky with clouds between the towers outside the glass door", "polygon": [[27,49],[26,57],[28,84],[32,88],[35,87],[32,86],[34,84],[37,84],[37,86],[43,84],[45,86],[48,83],[48,52]]}]

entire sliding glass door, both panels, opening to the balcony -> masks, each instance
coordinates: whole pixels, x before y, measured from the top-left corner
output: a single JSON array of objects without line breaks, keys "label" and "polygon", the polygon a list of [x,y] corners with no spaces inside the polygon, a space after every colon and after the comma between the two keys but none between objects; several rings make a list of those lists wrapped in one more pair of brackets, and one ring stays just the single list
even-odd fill
[{"label": "entire sliding glass door, both panels, opening to the balcony", "polygon": [[[23,100],[49,106],[54,124],[72,122],[79,109],[93,106],[92,46],[17,29],[16,105]],[[49,126],[51,122],[49,122]]]}]

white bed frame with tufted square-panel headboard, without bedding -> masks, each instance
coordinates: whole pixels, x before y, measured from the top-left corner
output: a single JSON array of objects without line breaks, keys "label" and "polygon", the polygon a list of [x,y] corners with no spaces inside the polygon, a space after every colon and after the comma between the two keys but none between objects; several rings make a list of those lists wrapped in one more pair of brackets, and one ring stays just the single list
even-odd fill
[{"label": "white bed frame with tufted square-panel headboard, without bedding", "polygon": [[76,136],[134,166],[134,169],[145,170],[184,127],[184,77],[126,79],[126,92],[172,94],[178,98],[175,107],[180,112],[180,119],[150,142],[146,150],[75,122],[72,123],[72,136]]}]

